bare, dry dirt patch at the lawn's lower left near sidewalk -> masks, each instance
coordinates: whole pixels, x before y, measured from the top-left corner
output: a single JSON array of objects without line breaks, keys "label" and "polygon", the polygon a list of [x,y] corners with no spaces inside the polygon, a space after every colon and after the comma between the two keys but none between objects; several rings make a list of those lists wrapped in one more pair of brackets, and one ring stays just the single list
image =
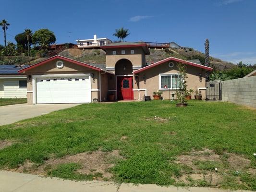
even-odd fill
[{"label": "bare, dry dirt patch at the lawn's lower left near sidewalk", "polygon": [[112,152],[93,151],[79,153],[73,156],[65,156],[63,158],[51,158],[42,165],[37,165],[36,163],[26,160],[19,168],[12,170],[37,175],[47,175],[50,169],[56,168],[59,164],[78,163],[82,166],[81,169],[77,170],[78,173],[94,174],[98,172],[102,173],[104,178],[111,178],[112,174],[109,172],[109,168],[114,167],[122,158],[123,157],[119,154],[119,150]]}]

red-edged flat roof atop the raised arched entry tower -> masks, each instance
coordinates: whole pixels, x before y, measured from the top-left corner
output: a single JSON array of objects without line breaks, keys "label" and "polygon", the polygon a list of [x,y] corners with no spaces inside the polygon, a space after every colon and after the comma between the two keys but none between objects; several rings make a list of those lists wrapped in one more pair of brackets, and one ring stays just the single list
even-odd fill
[{"label": "red-edged flat roof atop the raised arched entry tower", "polygon": [[141,47],[144,52],[148,55],[150,54],[146,43],[131,43],[131,42],[120,42],[120,43],[111,43],[109,45],[101,46],[100,48],[106,50],[108,48],[134,48]]}]

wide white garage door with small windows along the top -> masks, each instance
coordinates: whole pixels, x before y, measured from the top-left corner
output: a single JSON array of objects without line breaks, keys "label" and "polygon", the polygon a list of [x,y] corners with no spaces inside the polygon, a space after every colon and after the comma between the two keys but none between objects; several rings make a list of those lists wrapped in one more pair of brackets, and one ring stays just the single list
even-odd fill
[{"label": "wide white garage door with small windows along the top", "polygon": [[37,103],[90,103],[89,76],[37,78]]}]

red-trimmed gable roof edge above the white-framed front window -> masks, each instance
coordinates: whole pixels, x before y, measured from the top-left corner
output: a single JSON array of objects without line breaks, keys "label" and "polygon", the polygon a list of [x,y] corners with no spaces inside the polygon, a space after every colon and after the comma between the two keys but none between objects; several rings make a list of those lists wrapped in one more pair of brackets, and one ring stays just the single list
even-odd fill
[{"label": "red-trimmed gable roof edge above the white-framed front window", "polygon": [[206,69],[207,71],[212,71],[212,68],[211,67],[207,67],[205,65],[200,65],[200,64],[197,64],[197,63],[193,63],[193,62],[190,62],[190,61],[186,61],[186,60],[181,60],[181,59],[178,59],[178,58],[174,58],[174,57],[169,57],[169,58],[166,58],[164,60],[160,60],[154,64],[151,64],[151,65],[148,65],[146,67],[143,67],[141,69],[138,69],[136,71],[134,71],[134,74],[136,73],[139,73],[139,72],[143,72],[145,71],[146,69],[150,69],[152,67],[155,67],[157,65],[160,65],[162,63],[165,63],[167,61],[170,61],[170,60],[173,60],[173,61],[177,61],[177,62],[181,62],[181,63],[184,63],[184,64],[187,64],[187,65],[192,65],[192,66],[195,66],[195,67],[199,67],[199,68],[202,68],[202,69]]}]

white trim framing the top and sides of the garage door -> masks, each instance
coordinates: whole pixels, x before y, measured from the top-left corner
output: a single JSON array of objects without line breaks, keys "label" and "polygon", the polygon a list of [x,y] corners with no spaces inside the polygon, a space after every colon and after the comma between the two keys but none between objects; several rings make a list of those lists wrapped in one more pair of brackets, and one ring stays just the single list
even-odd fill
[{"label": "white trim framing the top and sides of the garage door", "polygon": [[[90,91],[91,91],[91,73],[73,73],[73,74],[45,74],[45,75],[32,75],[32,93],[33,93],[33,104],[37,104],[37,78],[45,77],[89,77]],[[90,94],[91,96],[91,94]],[[92,100],[92,98],[90,98]]]}]

